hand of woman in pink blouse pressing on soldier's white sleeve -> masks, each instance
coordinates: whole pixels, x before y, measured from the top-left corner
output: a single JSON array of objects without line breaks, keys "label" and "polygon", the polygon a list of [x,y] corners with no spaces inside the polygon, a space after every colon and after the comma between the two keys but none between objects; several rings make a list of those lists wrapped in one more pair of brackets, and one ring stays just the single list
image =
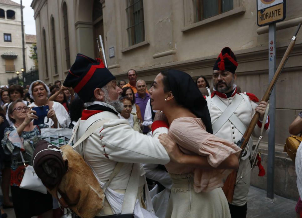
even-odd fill
[{"label": "hand of woman in pink blouse pressing on soldier's white sleeve", "polygon": [[174,142],[167,133],[160,134],[158,138],[159,142],[168,152],[171,161],[180,164],[182,162],[184,153],[179,149],[179,146],[176,144],[176,142]]}]

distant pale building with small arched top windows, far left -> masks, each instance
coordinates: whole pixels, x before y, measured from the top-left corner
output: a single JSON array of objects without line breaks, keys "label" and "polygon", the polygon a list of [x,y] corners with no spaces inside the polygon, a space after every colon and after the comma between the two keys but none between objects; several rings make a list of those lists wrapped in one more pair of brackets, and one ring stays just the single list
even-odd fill
[{"label": "distant pale building with small arched top windows, far left", "polygon": [[[25,57],[28,55],[26,48]],[[20,4],[11,0],[0,0],[0,56],[0,85],[7,85],[23,68]],[[26,69],[31,68],[33,61],[25,59]]]}]

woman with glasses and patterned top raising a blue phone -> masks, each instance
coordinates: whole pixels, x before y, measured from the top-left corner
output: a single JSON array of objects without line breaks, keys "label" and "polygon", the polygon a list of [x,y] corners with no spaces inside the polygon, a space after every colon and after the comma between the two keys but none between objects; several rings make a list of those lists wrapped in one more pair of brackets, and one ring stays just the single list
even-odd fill
[{"label": "woman with glasses and patterned top raising a blue phone", "polygon": [[[42,215],[42,217],[52,217],[53,200],[52,196],[40,192],[20,188],[25,171],[25,165],[32,164],[33,151],[40,140],[40,129],[48,127],[46,124],[33,125],[33,119],[38,119],[36,111],[31,110],[23,103],[22,99],[17,99],[8,107],[9,119],[12,126],[4,130],[2,146],[4,152],[12,155],[11,165],[11,192],[16,217],[32,217]],[[54,111],[48,112],[48,118],[57,123]]]}]

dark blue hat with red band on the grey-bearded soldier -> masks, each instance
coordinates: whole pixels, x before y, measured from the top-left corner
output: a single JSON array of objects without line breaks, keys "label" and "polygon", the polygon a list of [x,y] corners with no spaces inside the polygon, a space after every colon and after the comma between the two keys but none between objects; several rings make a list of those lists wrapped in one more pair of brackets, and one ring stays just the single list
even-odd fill
[{"label": "dark blue hat with red band on the grey-bearded soldier", "polygon": [[89,102],[96,88],[102,88],[115,77],[102,60],[78,54],[71,66],[63,86],[72,87],[83,102]]}]

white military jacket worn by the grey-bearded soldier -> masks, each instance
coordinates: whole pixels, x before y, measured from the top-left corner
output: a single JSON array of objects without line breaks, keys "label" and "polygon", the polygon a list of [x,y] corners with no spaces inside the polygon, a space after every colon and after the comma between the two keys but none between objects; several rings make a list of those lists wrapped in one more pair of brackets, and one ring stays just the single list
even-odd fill
[{"label": "white military jacket worn by the grey-bearded soldier", "polygon": [[[113,108],[103,102],[93,103]],[[83,111],[84,113],[85,111]],[[117,162],[126,163],[108,186],[111,189],[126,189],[133,163],[167,164],[170,161],[164,146],[157,138],[161,133],[168,133],[167,127],[157,128],[151,137],[133,130],[127,120],[119,119],[112,112],[98,111],[93,114],[94,111],[86,110],[86,113],[88,116],[82,116],[78,121],[80,123],[74,141],[77,141],[96,120],[109,120],[89,136],[82,146],[75,148],[91,165],[98,178],[104,183],[107,182]],[[89,113],[93,115],[89,116]],[[144,174],[141,166],[140,186],[144,184]]]}]

